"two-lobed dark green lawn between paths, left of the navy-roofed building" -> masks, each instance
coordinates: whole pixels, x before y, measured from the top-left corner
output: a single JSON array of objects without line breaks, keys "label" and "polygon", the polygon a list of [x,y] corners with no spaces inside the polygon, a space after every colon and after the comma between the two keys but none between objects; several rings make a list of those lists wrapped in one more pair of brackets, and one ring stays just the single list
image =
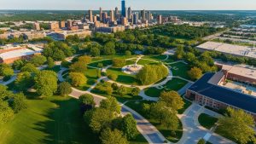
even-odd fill
[{"label": "two-lobed dark green lawn between paths, left of the navy-roofed building", "polygon": [[182,89],[183,86],[188,84],[187,81],[184,81],[180,78],[172,78],[172,80],[168,81],[165,85],[163,85],[163,89],[157,89],[154,87],[145,89],[145,94],[151,97],[159,97],[160,93],[164,90],[174,90],[177,91],[179,89]]}]

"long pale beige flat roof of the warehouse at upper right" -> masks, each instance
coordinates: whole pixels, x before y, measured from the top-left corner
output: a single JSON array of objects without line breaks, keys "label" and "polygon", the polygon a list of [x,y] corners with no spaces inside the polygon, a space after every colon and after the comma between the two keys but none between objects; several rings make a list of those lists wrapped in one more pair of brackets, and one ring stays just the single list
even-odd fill
[{"label": "long pale beige flat roof of the warehouse at upper right", "polygon": [[241,55],[250,58],[256,58],[256,48],[229,44],[229,43],[216,43],[207,42],[197,46],[198,49],[213,50],[230,55]]}]

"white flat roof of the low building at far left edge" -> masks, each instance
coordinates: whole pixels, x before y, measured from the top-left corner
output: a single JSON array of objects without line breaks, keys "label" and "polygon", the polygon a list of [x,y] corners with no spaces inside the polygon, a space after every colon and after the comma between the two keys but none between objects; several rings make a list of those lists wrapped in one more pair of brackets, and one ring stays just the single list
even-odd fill
[{"label": "white flat roof of the low building at far left edge", "polygon": [[15,57],[21,57],[21,56],[33,55],[33,54],[36,54],[36,53],[41,53],[43,51],[43,49],[38,49],[38,48],[34,49],[34,50],[31,50],[31,49],[13,50],[13,51],[9,51],[9,52],[0,54],[0,57],[3,60],[8,60],[8,59],[12,59],[12,58],[15,58]]}]

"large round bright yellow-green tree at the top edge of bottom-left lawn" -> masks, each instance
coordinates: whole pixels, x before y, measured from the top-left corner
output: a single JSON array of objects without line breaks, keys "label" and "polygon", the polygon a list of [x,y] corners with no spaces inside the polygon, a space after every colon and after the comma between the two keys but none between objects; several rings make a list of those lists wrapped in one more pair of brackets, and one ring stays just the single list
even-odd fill
[{"label": "large round bright yellow-green tree at the top edge of bottom-left lawn", "polygon": [[38,72],[34,80],[38,95],[51,96],[57,91],[58,78],[55,72]]}]

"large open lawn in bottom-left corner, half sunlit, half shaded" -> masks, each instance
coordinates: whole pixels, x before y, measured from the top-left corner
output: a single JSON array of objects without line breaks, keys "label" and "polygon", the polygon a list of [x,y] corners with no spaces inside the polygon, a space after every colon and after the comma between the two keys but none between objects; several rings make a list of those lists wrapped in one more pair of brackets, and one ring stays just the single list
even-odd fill
[{"label": "large open lawn in bottom-left corner, half sunlit, half shaded", "polygon": [[96,143],[84,124],[79,101],[53,96],[28,100],[28,108],[0,126],[1,144]]}]

